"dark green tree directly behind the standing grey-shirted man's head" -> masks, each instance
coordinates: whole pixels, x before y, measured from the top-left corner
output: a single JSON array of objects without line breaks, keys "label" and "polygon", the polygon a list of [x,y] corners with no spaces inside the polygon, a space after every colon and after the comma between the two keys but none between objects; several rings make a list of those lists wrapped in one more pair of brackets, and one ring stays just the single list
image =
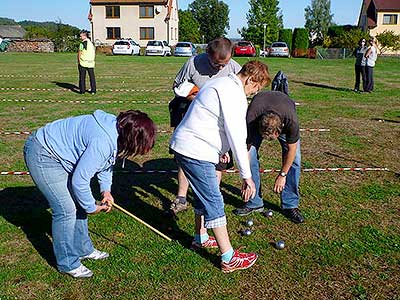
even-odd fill
[{"label": "dark green tree directly behind the standing grey-shirted man's head", "polygon": [[205,42],[224,36],[229,29],[229,7],[218,0],[194,0],[189,10],[200,24]]}]

